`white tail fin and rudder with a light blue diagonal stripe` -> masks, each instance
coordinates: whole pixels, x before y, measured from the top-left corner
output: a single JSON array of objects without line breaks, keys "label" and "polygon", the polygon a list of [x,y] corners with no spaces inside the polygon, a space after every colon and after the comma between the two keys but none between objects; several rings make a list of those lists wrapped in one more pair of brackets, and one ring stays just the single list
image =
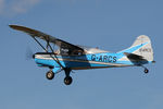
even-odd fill
[{"label": "white tail fin and rudder with a light blue diagonal stripe", "polygon": [[146,35],[138,36],[131,47],[121,52],[137,55],[142,57],[147,61],[153,62],[153,49],[151,46],[151,40]]}]

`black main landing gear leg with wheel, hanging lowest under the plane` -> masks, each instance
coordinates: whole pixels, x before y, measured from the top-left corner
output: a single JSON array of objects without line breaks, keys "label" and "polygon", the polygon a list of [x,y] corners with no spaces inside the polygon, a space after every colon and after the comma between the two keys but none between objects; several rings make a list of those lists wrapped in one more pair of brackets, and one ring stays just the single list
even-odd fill
[{"label": "black main landing gear leg with wheel, hanging lowest under the plane", "polygon": [[64,84],[65,85],[71,85],[73,82],[73,78],[70,76],[71,69],[65,69],[65,78],[64,78]]}]

